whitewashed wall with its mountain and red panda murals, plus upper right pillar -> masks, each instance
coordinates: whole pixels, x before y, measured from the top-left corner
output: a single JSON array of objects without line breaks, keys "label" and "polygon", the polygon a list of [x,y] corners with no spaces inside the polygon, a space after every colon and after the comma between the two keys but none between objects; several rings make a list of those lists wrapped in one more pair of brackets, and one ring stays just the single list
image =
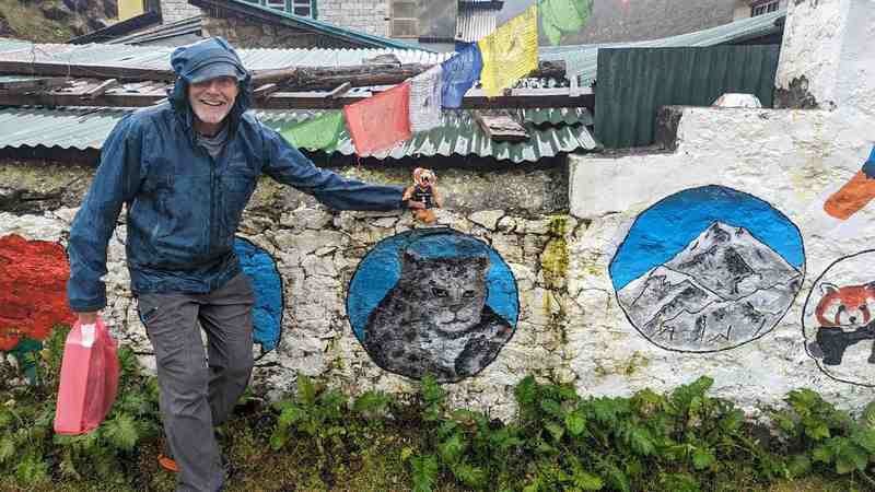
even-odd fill
[{"label": "whitewashed wall with its mountain and red panda murals, plus upper right pillar", "polygon": [[[579,386],[626,393],[709,374],[719,395],[749,409],[779,403],[795,387],[843,407],[871,400],[873,339],[848,342],[863,332],[856,329],[865,316],[836,314],[842,303],[845,312],[859,309],[848,294],[866,292],[875,280],[867,267],[875,190],[864,171],[867,161],[875,164],[875,84],[871,55],[861,48],[872,15],[871,1],[790,5],[778,83],[805,77],[820,109],[676,108],[676,152],[571,157],[571,214],[588,224],[569,245],[567,329]],[[709,236],[714,222],[727,227]],[[732,254],[709,249],[716,237]],[[754,250],[752,241],[757,255],[782,259],[747,270],[761,261],[744,253]],[[708,268],[697,271],[697,262]],[[784,262],[797,274],[767,285]],[[712,295],[730,284],[720,283],[726,269],[744,270],[739,276],[752,283]],[[760,314],[745,319],[737,315],[742,298],[749,314]],[[643,370],[604,375],[629,353],[639,354]]]}]

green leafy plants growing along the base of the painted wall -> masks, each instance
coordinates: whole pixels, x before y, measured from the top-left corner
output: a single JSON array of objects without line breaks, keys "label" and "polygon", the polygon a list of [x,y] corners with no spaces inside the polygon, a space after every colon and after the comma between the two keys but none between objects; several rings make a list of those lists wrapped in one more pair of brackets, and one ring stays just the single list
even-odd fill
[{"label": "green leafy plants growing along the base of the painted wall", "polygon": [[[120,350],[119,397],[80,437],[52,434],[65,329],[39,353],[40,386],[7,386],[0,365],[0,490],[170,491],[158,389]],[[712,398],[701,377],[667,394],[582,397],[529,376],[510,423],[446,405],[425,377],[412,401],[350,399],[301,376],[294,396],[248,395],[220,430],[231,491],[863,491],[874,490],[875,405],[854,418],[808,389],[769,426]],[[59,485],[60,484],[60,485]]]}]

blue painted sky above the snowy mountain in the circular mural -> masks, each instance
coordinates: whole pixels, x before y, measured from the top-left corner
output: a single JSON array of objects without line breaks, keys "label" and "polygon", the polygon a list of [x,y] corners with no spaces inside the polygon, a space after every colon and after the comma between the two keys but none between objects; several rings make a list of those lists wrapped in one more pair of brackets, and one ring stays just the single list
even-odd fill
[{"label": "blue painted sky above the snowy mountain in the circular mural", "polygon": [[635,219],[610,262],[614,289],[665,263],[715,221],[745,227],[802,271],[802,234],[786,215],[752,195],[709,185],[668,196]]}]

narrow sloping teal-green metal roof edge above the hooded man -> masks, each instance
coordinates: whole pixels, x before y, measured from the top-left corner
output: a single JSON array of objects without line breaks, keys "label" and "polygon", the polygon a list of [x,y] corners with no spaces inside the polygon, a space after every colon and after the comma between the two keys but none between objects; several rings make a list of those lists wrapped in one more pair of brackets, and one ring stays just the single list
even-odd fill
[{"label": "narrow sloping teal-green metal roof edge above the hooded man", "polygon": [[314,19],[305,17],[303,15],[295,15],[293,13],[284,12],[277,9],[271,9],[266,5],[260,5],[257,2],[253,3],[246,0],[190,0],[189,3],[200,8],[226,8],[236,11],[248,11],[258,13],[260,15],[269,15],[283,24],[303,28],[306,31],[316,32],[326,36],[343,39],[347,43],[361,45],[363,48],[398,48],[398,49],[423,49],[420,46],[409,45],[399,40],[390,39],[383,36],[375,36],[373,34],[354,31],[347,27],[340,27],[327,22],[317,21]]}]

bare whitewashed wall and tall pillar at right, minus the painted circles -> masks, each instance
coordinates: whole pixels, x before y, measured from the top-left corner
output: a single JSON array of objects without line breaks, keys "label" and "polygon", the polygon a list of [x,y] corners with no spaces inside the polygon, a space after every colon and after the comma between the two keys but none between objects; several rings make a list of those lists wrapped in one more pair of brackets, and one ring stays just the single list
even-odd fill
[{"label": "bare whitewashed wall and tall pillar at right, minus the painted circles", "polygon": [[[587,233],[569,245],[573,315],[567,350],[582,389],[669,388],[708,374],[718,395],[748,410],[779,403],[797,387],[816,389],[847,408],[875,396],[865,386],[875,375],[865,358],[850,368],[827,367],[806,352],[810,340],[803,333],[803,320],[813,316],[812,305],[805,313],[803,307],[818,276],[833,261],[872,249],[875,238],[875,204],[843,221],[824,211],[825,201],[861,171],[875,143],[875,1],[796,0],[789,8],[777,86],[785,106],[821,109],[688,107],[673,153],[571,157],[571,213],[588,224]],[[663,198],[705,185],[752,195],[786,215],[802,234],[805,280],[766,336],[712,353],[669,351],[626,318],[608,268],[639,214]],[[859,277],[868,279],[865,271]],[[635,368],[631,374],[625,371],[629,366]],[[841,371],[863,377],[840,382],[835,376]]]}]

